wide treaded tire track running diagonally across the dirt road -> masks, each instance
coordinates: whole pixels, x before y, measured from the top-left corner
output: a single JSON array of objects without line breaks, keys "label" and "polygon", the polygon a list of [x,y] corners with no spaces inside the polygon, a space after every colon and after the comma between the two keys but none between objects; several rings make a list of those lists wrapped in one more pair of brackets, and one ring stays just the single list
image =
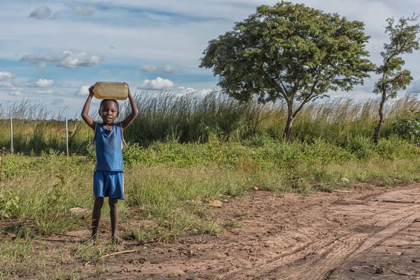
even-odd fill
[{"label": "wide treaded tire track running diagonally across the dirt road", "polygon": [[[372,196],[363,198],[367,198],[368,202],[374,202],[374,204],[381,202],[379,200],[372,201]],[[374,207],[374,205],[370,205],[370,207]],[[419,214],[416,213],[418,211],[419,206],[412,204],[406,207],[404,211],[401,209],[385,209],[379,211],[379,213],[358,218],[356,221],[353,221],[353,225],[346,229],[349,232],[340,232],[336,237],[304,244],[276,257],[260,260],[246,267],[233,269],[218,275],[217,279],[232,279],[241,272],[246,272],[246,276],[249,279],[262,278],[262,276],[267,274],[270,278],[275,275],[272,279],[307,279],[309,274],[311,279],[325,279],[325,274],[333,271],[335,267],[348,260],[351,256],[358,255],[375,244],[379,244],[416,221],[416,218],[419,218]],[[407,212],[409,215],[407,215]],[[363,223],[358,223],[360,221],[363,221]],[[367,224],[367,221],[371,223]],[[364,225],[374,225],[376,228],[370,234],[352,232],[352,229],[363,227]],[[305,258],[307,255],[314,255],[315,257],[309,262],[303,262],[300,266],[296,266],[293,263]],[[293,264],[293,267],[290,267],[290,263]],[[287,265],[289,266],[287,267]],[[275,272],[279,267],[282,267],[281,274]]]}]

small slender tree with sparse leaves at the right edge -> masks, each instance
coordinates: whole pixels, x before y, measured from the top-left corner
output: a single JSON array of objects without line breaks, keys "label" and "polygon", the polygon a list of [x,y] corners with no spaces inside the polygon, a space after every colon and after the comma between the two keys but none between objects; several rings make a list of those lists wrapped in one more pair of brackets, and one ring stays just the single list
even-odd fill
[{"label": "small slender tree with sparse leaves at the right edge", "polygon": [[373,92],[381,94],[381,103],[379,104],[379,123],[374,128],[374,141],[379,141],[379,130],[384,123],[384,105],[389,98],[397,97],[398,90],[405,90],[413,77],[410,71],[402,70],[405,64],[404,59],[399,55],[412,53],[413,50],[419,50],[420,26],[409,25],[419,16],[413,15],[411,18],[400,18],[394,25],[394,19],[388,18],[385,27],[385,33],[389,34],[390,43],[384,43],[384,51],[381,52],[383,64],[377,67],[376,73],[381,74],[381,78],[375,83]]}]

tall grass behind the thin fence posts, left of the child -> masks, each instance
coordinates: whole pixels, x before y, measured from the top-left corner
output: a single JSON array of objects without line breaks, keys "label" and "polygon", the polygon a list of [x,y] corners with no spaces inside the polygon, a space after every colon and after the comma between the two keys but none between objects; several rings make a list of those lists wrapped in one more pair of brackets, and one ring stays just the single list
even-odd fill
[{"label": "tall grass behind the thin fence posts, left of the child", "polygon": [[[10,118],[13,123],[13,149],[18,153],[40,154],[42,151],[65,151],[65,117],[54,114],[42,102],[28,100],[0,103],[0,148],[10,150]],[[86,153],[92,132],[80,120],[69,120],[71,153]]]}]

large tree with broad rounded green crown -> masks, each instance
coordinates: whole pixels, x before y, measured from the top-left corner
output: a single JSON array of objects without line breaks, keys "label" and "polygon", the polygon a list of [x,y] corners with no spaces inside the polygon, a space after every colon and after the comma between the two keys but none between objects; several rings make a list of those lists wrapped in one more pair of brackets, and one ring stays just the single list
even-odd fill
[{"label": "large tree with broad rounded green crown", "polygon": [[297,113],[329,91],[363,84],[374,65],[366,57],[363,22],[281,1],[260,6],[232,31],[209,41],[200,67],[213,69],[218,85],[241,101],[284,99],[288,141]]}]

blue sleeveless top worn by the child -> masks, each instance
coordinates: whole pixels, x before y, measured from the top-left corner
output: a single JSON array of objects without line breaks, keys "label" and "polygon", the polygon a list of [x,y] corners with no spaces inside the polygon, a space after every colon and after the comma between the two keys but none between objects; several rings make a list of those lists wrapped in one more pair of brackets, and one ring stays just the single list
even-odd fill
[{"label": "blue sleeveless top worn by the child", "polygon": [[127,145],[121,123],[114,124],[111,130],[97,123],[92,144],[96,152],[95,171],[124,171],[123,148]]}]

